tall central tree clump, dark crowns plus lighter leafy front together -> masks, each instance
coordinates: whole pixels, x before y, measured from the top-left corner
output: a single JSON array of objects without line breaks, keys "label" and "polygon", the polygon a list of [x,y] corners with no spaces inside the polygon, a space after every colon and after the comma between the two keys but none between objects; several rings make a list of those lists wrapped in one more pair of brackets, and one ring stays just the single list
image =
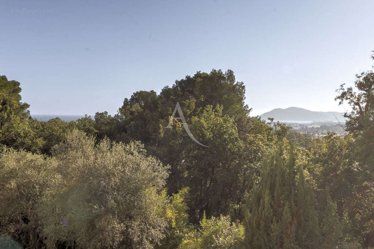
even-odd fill
[{"label": "tall central tree clump, dark crowns plus lighter leafy front together", "polygon": [[[243,83],[235,82],[231,70],[197,72],[164,87],[160,95],[134,93],[115,117],[114,139],[140,140],[149,153],[171,165],[169,194],[190,188],[188,213],[194,224],[203,212],[241,219],[242,197],[259,173],[261,156],[288,130],[282,124],[273,130],[260,118],[249,117],[244,95]],[[194,137],[209,148],[196,144],[180,122],[164,129],[177,102]]]}]

